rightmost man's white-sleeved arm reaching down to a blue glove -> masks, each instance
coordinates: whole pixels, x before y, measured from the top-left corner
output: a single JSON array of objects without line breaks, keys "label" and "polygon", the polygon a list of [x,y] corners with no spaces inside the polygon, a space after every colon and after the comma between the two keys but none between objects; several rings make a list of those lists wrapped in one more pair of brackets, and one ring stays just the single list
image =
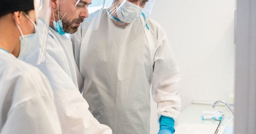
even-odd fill
[{"label": "rightmost man's white-sleeved arm reaching down to a blue glove", "polygon": [[[165,118],[164,121],[171,122],[173,119],[175,124],[178,122],[181,110],[180,80],[180,71],[165,35],[157,43],[152,77],[152,95],[154,101],[158,104],[160,126],[161,116],[169,117]],[[168,127],[174,128],[174,126]]]}]

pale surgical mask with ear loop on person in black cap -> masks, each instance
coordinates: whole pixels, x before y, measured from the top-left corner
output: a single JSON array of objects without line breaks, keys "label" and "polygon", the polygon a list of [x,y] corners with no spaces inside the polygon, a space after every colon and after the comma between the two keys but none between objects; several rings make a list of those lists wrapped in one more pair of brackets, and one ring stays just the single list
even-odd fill
[{"label": "pale surgical mask with ear loop on person in black cap", "polygon": [[[29,16],[23,12],[23,14],[30,20],[30,22],[34,25],[35,31],[36,31],[36,25],[35,23],[29,18]],[[24,35],[23,32],[20,29],[20,26],[16,23],[21,37],[20,37],[20,53],[18,58],[21,58],[22,56],[26,55],[34,46],[36,43],[37,36],[35,33]]]}]

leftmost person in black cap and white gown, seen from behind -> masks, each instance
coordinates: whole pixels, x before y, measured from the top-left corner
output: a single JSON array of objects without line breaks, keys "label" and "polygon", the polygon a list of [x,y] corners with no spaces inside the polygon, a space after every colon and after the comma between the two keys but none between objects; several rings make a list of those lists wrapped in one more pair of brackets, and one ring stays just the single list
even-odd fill
[{"label": "leftmost person in black cap and white gown, seen from behind", "polygon": [[0,134],[62,133],[48,79],[18,59],[45,37],[35,14],[33,0],[0,2]]}]

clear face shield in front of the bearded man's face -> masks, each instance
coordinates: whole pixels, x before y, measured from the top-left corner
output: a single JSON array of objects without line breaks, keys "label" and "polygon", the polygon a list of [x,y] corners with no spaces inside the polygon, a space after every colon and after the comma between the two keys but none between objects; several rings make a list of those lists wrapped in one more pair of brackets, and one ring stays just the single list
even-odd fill
[{"label": "clear face shield in front of the bearded man's face", "polygon": [[[54,29],[61,35],[73,34],[78,27],[97,29],[105,0],[57,0],[57,7],[52,7]],[[91,16],[92,15],[92,16]],[[89,17],[91,16],[91,17]]]}]

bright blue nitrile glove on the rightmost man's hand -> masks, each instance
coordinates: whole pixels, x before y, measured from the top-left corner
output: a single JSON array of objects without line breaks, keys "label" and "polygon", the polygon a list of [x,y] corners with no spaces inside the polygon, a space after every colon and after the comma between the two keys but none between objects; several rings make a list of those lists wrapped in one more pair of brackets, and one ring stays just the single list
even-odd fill
[{"label": "bright blue nitrile glove on the rightmost man's hand", "polygon": [[174,120],[171,117],[160,116],[159,118],[160,129],[158,134],[173,134],[174,129]]}]

